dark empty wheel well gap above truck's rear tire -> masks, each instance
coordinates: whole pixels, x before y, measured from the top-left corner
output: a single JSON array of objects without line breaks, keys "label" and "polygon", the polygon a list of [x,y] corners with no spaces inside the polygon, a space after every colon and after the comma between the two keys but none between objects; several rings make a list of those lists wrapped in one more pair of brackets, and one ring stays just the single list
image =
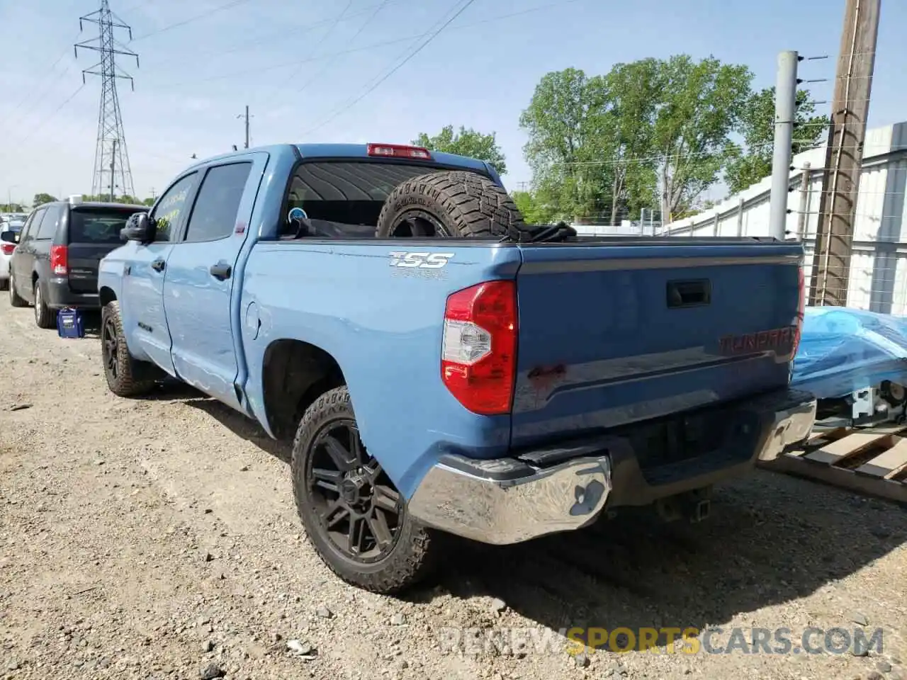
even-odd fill
[{"label": "dark empty wheel well gap above truck's rear tire", "polygon": [[301,340],[277,340],[265,350],[263,384],[268,425],[292,439],[302,414],[319,396],[346,384],[336,359]]}]

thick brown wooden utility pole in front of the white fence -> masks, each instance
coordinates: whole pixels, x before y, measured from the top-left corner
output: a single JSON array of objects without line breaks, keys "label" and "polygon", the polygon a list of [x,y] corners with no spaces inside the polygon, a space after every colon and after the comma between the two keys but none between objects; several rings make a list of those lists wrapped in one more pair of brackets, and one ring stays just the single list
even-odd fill
[{"label": "thick brown wooden utility pole in front of the white fence", "polygon": [[819,200],[811,305],[847,304],[853,219],[860,190],[881,4],[881,0],[846,0]]}]

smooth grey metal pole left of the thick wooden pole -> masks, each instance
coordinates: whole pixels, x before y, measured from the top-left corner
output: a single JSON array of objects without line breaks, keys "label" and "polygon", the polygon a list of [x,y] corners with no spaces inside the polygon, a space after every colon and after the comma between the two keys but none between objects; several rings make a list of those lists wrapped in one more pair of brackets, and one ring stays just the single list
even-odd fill
[{"label": "smooth grey metal pole left of the thick wooden pole", "polygon": [[778,54],[775,82],[775,151],[772,157],[772,193],[769,199],[769,236],[783,241],[787,236],[787,192],[796,115],[795,52]]}]

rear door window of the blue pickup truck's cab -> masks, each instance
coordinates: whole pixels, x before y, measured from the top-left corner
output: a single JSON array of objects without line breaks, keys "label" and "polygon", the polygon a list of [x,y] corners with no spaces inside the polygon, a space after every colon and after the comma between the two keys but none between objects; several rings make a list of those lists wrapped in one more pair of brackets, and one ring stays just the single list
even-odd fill
[{"label": "rear door window of the blue pickup truck's cab", "polygon": [[189,218],[186,241],[215,241],[233,233],[251,170],[251,163],[230,163],[208,170]]}]

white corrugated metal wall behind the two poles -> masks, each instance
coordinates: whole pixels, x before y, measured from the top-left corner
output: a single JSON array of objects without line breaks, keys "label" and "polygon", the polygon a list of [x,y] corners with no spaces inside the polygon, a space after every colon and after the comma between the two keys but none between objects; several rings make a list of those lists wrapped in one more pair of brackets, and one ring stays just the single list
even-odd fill
[{"label": "white corrugated metal wall behind the two poles", "polygon": [[[787,194],[787,230],[804,240],[808,285],[818,225],[825,149],[797,154]],[[803,170],[809,163],[809,170]],[[802,178],[807,176],[804,183]],[[663,233],[685,236],[768,236],[771,178],[712,209],[668,225]],[[907,315],[907,122],[866,131],[863,170],[853,225],[853,259],[847,306]]]}]

